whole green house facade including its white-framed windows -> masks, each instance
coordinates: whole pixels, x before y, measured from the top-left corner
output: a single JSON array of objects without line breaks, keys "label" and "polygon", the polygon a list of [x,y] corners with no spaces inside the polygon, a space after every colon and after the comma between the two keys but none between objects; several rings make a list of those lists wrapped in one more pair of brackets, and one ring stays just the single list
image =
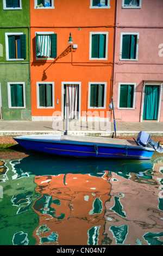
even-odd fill
[{"label": "whole green house facade including its white-framed windows", "polygon": [[28,0],[0,2],[0,119],[30,120]]}]

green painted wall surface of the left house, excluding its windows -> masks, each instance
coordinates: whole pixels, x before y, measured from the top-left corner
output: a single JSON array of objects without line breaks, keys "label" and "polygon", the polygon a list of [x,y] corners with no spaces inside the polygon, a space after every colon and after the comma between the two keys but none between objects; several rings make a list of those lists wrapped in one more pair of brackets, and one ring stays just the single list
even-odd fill
[{"label": "green painted wall surface of the left house, excluding its windows", "polygon": [[[26,59],[11,61],[6,58],[5,33],[26,34]],[[22,10],[3,10],[0,1],[0,83],[3,120],[29,120],[31,118],[30,93],[30,15],[29,0],[22,0]],[[24,82],[26,108],[9,108],[8,82]]]}]

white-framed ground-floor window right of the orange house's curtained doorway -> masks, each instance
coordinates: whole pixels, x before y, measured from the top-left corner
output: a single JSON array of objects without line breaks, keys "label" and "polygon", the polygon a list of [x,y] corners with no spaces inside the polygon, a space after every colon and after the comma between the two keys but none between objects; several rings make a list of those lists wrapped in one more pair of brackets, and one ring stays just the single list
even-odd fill
[{"label": "white-framed ground-floor window right of the orange house's curtained doorway", "polygon": [[106,83],[89,83],[89,108],[105,108]]}]

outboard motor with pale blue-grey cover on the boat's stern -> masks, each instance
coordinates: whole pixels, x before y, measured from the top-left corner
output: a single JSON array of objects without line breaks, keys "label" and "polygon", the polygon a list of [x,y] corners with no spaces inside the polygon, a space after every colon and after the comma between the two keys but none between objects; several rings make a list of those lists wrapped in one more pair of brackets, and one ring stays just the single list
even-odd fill
[{"label": "outboard motor with pale blue-grey cover on the boat's stern", "polygon": [[139,132],[136,142],[143,147],[153,148],[155,151],[163,153],[163,148],[160,147],[160,142],[154,142],[151,138],[151,135],[146,132]]}]

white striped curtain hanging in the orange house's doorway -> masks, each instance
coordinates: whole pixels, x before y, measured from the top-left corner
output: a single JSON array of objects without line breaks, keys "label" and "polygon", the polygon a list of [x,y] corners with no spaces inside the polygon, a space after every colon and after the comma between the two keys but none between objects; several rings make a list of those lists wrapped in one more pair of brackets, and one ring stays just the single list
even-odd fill
[{"label": "white striped curtain hanging in the orange house's doorway", "polygon": [[78,84],[66,84],[66,103],[68,103],[68,118],[77,119]]}]

